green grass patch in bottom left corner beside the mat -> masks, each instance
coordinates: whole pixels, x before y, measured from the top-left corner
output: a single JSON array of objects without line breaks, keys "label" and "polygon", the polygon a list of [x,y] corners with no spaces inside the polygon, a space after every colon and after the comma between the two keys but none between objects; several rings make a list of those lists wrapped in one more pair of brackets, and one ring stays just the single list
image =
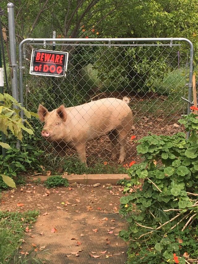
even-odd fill
[{"label": "green grass patch in bottom left corner beside the mat", "polygon": [[32,252],[26,258],[19,253],[25,228],[31,228],[38,215],[36,210],[24,213],[0,212],[0,264],[43,263],[39,258],[32,257]]}]

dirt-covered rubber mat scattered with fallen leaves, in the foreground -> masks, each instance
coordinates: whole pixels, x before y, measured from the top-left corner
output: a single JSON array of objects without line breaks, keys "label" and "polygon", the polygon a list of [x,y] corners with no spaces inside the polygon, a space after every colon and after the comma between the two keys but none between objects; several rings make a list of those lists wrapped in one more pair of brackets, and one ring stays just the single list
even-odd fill
[{"label": "dirt-covered rubber mat scattered with fallen leaves, in the foreground", "polygon": [[42,257],[56,264],[125,263],[127,244],[118,233],[126,225],[118,214],[54,211],[38,218],[22,251],[33,245],[38,255],[44,250],[49,254],[42,252]]}]

